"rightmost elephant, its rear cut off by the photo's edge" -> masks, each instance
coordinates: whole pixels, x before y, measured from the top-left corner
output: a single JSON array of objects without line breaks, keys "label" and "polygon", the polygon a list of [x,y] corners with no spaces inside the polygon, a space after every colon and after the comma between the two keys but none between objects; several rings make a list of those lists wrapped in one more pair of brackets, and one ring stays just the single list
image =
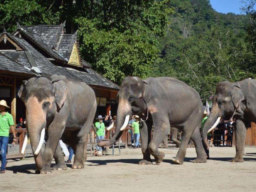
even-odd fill
[{"label": "rightmost elephant, its rear cut off by the photo's edge", "polygon": [[[232,116],[236,118],[236,156],[231,162],[243,162],[246,129],[250,122],[256,123],[256,80],[245,79],[238,82],[219,82],[213,97],[213,106],[203,129],[203,140],[208,146],[207,131],[218,117]],[[248,126],[247,126],[248,125]],[[208,146],[209,148],[209,146]]]}]

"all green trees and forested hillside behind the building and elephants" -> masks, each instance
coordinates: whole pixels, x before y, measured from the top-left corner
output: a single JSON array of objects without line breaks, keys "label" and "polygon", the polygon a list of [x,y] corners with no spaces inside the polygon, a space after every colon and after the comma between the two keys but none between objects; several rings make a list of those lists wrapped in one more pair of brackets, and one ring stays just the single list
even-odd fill
[{"label": "all green trees and forested hillside behind the building and elephants", "polygon": [[256,0],[247,15],[221,14],[209,0],[1,0],[0,26],[79,29],[82,57],[120,84],[125,76],[171,76],[209,100],[219,81],[256,77]]}]

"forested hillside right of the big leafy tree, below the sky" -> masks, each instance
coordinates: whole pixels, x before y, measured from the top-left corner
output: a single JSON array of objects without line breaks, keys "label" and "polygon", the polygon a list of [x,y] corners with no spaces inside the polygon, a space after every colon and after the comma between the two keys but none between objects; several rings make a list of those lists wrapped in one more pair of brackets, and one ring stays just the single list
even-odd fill
[{"label": "forested hillside right of the big leafy tree, below the sky", "polygon": [[170,16],[171,31],[158,38],[162,61],[155,76],[186,82],[204,101],[219,81],[255,77],[248,16],[217,13],[209,0],[173,0],[169,6],[175,7],[175,14]]}]

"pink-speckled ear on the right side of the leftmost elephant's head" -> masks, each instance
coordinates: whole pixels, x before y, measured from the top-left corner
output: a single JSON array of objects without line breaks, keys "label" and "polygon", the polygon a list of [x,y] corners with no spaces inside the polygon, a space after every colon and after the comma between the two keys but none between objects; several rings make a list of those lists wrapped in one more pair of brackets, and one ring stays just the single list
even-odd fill
[{"label": "pink-speckled ear on the right side of the leftmost elephant's head", "polygon": [[66,86],[66,83],[61,78],[61,76],[59,76],[59,78],[53,78],[51,82],[53,83],[53,86],[55,88],[54,90],[55,102],[58,105],[58,107],[61,109],[61,107],[63,106],[64,102],[67,99],[67,94],[69,92],[69,89]]}]

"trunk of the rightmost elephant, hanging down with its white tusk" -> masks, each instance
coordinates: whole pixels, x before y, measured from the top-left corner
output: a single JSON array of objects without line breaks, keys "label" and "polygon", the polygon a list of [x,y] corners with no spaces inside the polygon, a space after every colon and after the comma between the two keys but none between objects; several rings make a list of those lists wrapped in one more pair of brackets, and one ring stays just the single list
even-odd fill
[{"label": "trunk of the rightmost elephant, hanging down with its white tusk", "polygon": [[221,112],[219,110],[219,106],[217,103],[215,103],[215,104],[213,104],[210,115],[209,115],[208,119],[206,120],[206,123],[204,124],[204,127],[203,127],[202,137],[203,137],[204,145],[207,148],[209,148],[209,145],[207,142],[207,133],[212,131],[218,125],[218,123],[221,119],[220,116],[221,116]]}]

